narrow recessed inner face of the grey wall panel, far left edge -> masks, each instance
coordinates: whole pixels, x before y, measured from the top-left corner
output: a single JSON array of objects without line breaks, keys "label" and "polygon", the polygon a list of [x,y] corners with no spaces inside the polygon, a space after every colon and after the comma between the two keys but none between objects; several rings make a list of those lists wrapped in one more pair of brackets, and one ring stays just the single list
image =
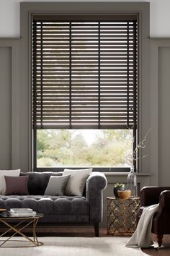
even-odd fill
[{"label": "narrow recessed inner face of the grey wall panel, far left edge", "polygon": [[12,51],[0,47],[0,163],[1,168],[11,168],[12,159]]}]

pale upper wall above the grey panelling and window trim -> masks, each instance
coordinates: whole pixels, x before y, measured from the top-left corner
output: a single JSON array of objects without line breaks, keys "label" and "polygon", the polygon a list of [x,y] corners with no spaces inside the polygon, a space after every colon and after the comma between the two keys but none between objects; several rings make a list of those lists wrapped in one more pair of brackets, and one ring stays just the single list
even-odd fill
[{"label": "pale upper wall above the grey panelling and window trim", "polygon": [[[19,37],[19,2],[27,0],[0,0],[0,37]],[[34,0],[32,0],[34,1]],[[48,0],[36,0],[48,1]],[[50,0],[56,1],[56,0]],[[62,0],[69,1],[71,0]],[[81,0],[74,0],[81,1]],[[84,0],[89,1],[89,0]],[[99,0],[93,0],[99,1]],[[109,0],[107,0],[109,1]],[[110,1],[131,1],[143,2],[144,0],[110,0]],[[150,0],[151,8],[151,37],[170,37],[170,1],[169,0]],[[4,26],[5,21],[5,26]]]}]

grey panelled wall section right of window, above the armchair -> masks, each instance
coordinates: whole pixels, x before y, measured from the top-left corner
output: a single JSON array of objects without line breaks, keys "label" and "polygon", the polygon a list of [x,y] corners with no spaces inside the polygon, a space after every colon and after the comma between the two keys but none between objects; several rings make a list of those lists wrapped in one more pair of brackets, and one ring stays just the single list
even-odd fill
[{"label": "grey panelled wall section right of window, above the armchair", "polygon": [[151,184],[169,186],[170,39],[151,39]]}]

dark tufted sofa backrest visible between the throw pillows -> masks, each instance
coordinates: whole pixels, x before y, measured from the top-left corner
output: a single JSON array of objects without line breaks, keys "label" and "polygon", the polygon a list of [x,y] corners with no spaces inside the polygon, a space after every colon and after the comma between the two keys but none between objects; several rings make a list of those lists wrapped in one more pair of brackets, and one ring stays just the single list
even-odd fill
[{"label": "dark tufted sofa backrest visible between the throw pillows", "polygon": [[21,172],[20,176],[28,175],[28,192],[30,195],[44,195],[50,176],[61,176],[62,172]]}]

